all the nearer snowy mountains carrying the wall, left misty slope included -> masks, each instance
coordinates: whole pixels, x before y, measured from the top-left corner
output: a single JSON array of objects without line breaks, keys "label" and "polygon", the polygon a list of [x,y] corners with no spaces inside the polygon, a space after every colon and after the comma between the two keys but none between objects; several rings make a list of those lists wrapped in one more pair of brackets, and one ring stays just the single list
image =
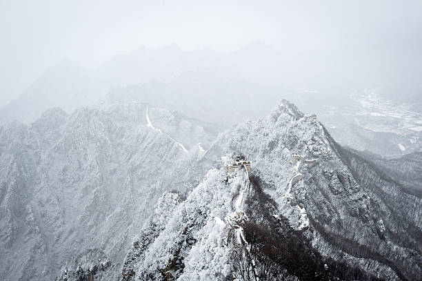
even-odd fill
[{"label": "all the nearer snowy mountains carrying the wall, left misty slope included", "polygon": [[0,128],[3,280],[422,279],[413,158],[288,101],[226,130],[139,103]]}]

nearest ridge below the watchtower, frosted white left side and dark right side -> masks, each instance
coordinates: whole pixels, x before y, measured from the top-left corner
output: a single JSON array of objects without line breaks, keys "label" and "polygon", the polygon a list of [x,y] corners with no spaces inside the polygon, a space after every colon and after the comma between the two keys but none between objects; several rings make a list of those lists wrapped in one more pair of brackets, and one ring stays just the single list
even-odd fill
[{"label": "nearest ridge below the watchtower, frosted white left side and dark right side", "polygon": [[125,258],[122,280],[378,280],[323,258],[304,235],[308,229],[293,229],[281,215],[259,176],[252,173],[248,186],[239,174],[206,177],[179,206],[179,194],[163,195]]}]

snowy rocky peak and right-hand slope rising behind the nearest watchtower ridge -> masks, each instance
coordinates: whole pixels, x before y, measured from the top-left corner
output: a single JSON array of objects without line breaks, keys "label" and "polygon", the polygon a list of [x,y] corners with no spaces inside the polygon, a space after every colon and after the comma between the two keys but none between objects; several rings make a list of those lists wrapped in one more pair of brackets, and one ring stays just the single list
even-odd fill
[{"label": "snowy rocky peak and right-hand slope rising behind the nearest watchtower ridge", "polygon": [[[220,135],[215,146],[221,153],[239,151],[254,161],[263,181],[273,186],[272,197],[280,208],[286,205],[283,195],[288,182],[297,173],[292,155],[299,155],[304,159],[302,178],[290,193],[308,214],[315,246],[323,251],[330,244],[327,241],[332,241],[337,249],[359,258],[367,255],[391,262],[399,275],[410,273],[410,280],[412,272],[421,273],[421,198],[406,193],[378,168],[341,148],[315,116],[303,115],[283,101],[265,119],[245,122]],[[294,226],[300,211],[284,212]],[[365,255],[354,249],[358,245],[366,248]]]}]

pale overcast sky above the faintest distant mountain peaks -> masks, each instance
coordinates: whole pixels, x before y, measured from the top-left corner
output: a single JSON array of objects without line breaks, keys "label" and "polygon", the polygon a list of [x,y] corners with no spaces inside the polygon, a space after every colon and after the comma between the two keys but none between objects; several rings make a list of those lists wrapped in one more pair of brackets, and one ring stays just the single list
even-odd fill
[{"label": "pale overcast sky above the faintest distant mountain peaks", "polygon": [[94,68],[141,45],[226,51],[261,39],[287,54],[421,46],[422,1],[348,2],[0,0],[0,105],[58,61]]}]

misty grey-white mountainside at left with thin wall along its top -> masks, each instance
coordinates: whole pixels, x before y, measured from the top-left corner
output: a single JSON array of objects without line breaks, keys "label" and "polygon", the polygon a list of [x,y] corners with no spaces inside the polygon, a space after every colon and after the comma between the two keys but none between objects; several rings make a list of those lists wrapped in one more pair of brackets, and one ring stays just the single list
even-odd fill
[{"label": "misty grey-white mountainside at left with thin wall along its top", "polygon": [[1,126],[0,279],[53,280],[88,250],[123,260],[163,191],[205,174],[189,167],[215,128],[191,121],[133,103]]}]

